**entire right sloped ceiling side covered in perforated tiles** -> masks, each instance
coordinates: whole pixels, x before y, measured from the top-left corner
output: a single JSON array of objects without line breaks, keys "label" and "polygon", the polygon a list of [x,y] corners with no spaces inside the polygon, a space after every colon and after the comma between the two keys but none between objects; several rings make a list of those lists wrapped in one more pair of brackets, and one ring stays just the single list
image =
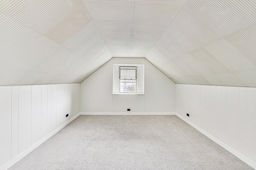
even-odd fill
[{"label": "entire right sloped ceiling side covered in perforated tiles", "polygon": [[256,87],[256,1],[189,0],[146,59],[175,83]]}]

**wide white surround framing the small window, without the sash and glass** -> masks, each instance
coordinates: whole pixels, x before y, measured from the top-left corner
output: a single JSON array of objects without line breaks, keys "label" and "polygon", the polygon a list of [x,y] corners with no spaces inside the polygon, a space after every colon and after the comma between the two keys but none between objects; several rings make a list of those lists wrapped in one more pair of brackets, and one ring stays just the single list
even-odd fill
[{"label": "wide white surround framing the small window, without the sash and glass", "polygon": [[[136,67],[136,92],[120,92],[120,67]],[[144,64],[113,64],[113,94],[144,94]]]}]

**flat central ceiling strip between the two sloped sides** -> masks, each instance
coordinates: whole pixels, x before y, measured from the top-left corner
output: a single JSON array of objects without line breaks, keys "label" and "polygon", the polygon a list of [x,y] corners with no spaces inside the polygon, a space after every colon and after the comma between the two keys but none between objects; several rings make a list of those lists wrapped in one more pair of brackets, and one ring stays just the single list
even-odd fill
[{"label": "flat central ceiling strip between the two sloped sides", "polygon": [[83,0],[113,57],[146,57],[187,0]]}]

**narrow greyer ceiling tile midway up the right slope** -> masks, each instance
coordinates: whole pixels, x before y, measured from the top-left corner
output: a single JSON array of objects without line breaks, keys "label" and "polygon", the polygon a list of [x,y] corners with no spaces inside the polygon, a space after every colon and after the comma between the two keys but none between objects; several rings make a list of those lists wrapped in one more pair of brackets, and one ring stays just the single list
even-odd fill
[{"label": "narrow greyer ceiling tile midway up the right slope", "polygon": [[221,64],[220,61],[214,58],[204,48],[192,51],[190,55],[192,55],[192,57],[194,57],[198,61],[198,63],[208,68],[208,70],[210,70],[210,72],[212,72],[213,74],[230,72],[228,68]]}]

